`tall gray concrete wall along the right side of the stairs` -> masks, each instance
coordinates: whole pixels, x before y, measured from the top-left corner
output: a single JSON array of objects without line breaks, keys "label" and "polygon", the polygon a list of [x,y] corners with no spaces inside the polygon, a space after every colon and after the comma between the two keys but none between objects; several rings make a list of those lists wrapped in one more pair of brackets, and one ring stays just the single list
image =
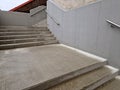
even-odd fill
[{"label": "tall gray concrete wall along the right side of the stairs", "polygon": [[49,0],[48,27],[61,43],[107,58],[120,68],[120,29],[106,22],[120,24],[119,9],[120,0],[98,0],[70,11]]}]

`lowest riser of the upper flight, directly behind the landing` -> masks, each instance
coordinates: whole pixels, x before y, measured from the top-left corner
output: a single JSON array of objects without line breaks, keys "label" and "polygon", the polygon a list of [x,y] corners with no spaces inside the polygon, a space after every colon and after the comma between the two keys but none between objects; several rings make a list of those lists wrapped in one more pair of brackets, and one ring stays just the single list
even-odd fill
[{"label": "lowest riser of the upper flight, directly behind the landing", "polygon": [[24,47],[32,47],[32,46],[41,46],[41,45],[49,45],[49,44],[57,44],[57,41],[50,41],[50,42],[37,42],[37,43],[26,43],[26,44],[18,44],[18,45],[10,45],[10,46],[0,46],[0,50],[6,49],[15,49],[15,48],[24,48]]}]

